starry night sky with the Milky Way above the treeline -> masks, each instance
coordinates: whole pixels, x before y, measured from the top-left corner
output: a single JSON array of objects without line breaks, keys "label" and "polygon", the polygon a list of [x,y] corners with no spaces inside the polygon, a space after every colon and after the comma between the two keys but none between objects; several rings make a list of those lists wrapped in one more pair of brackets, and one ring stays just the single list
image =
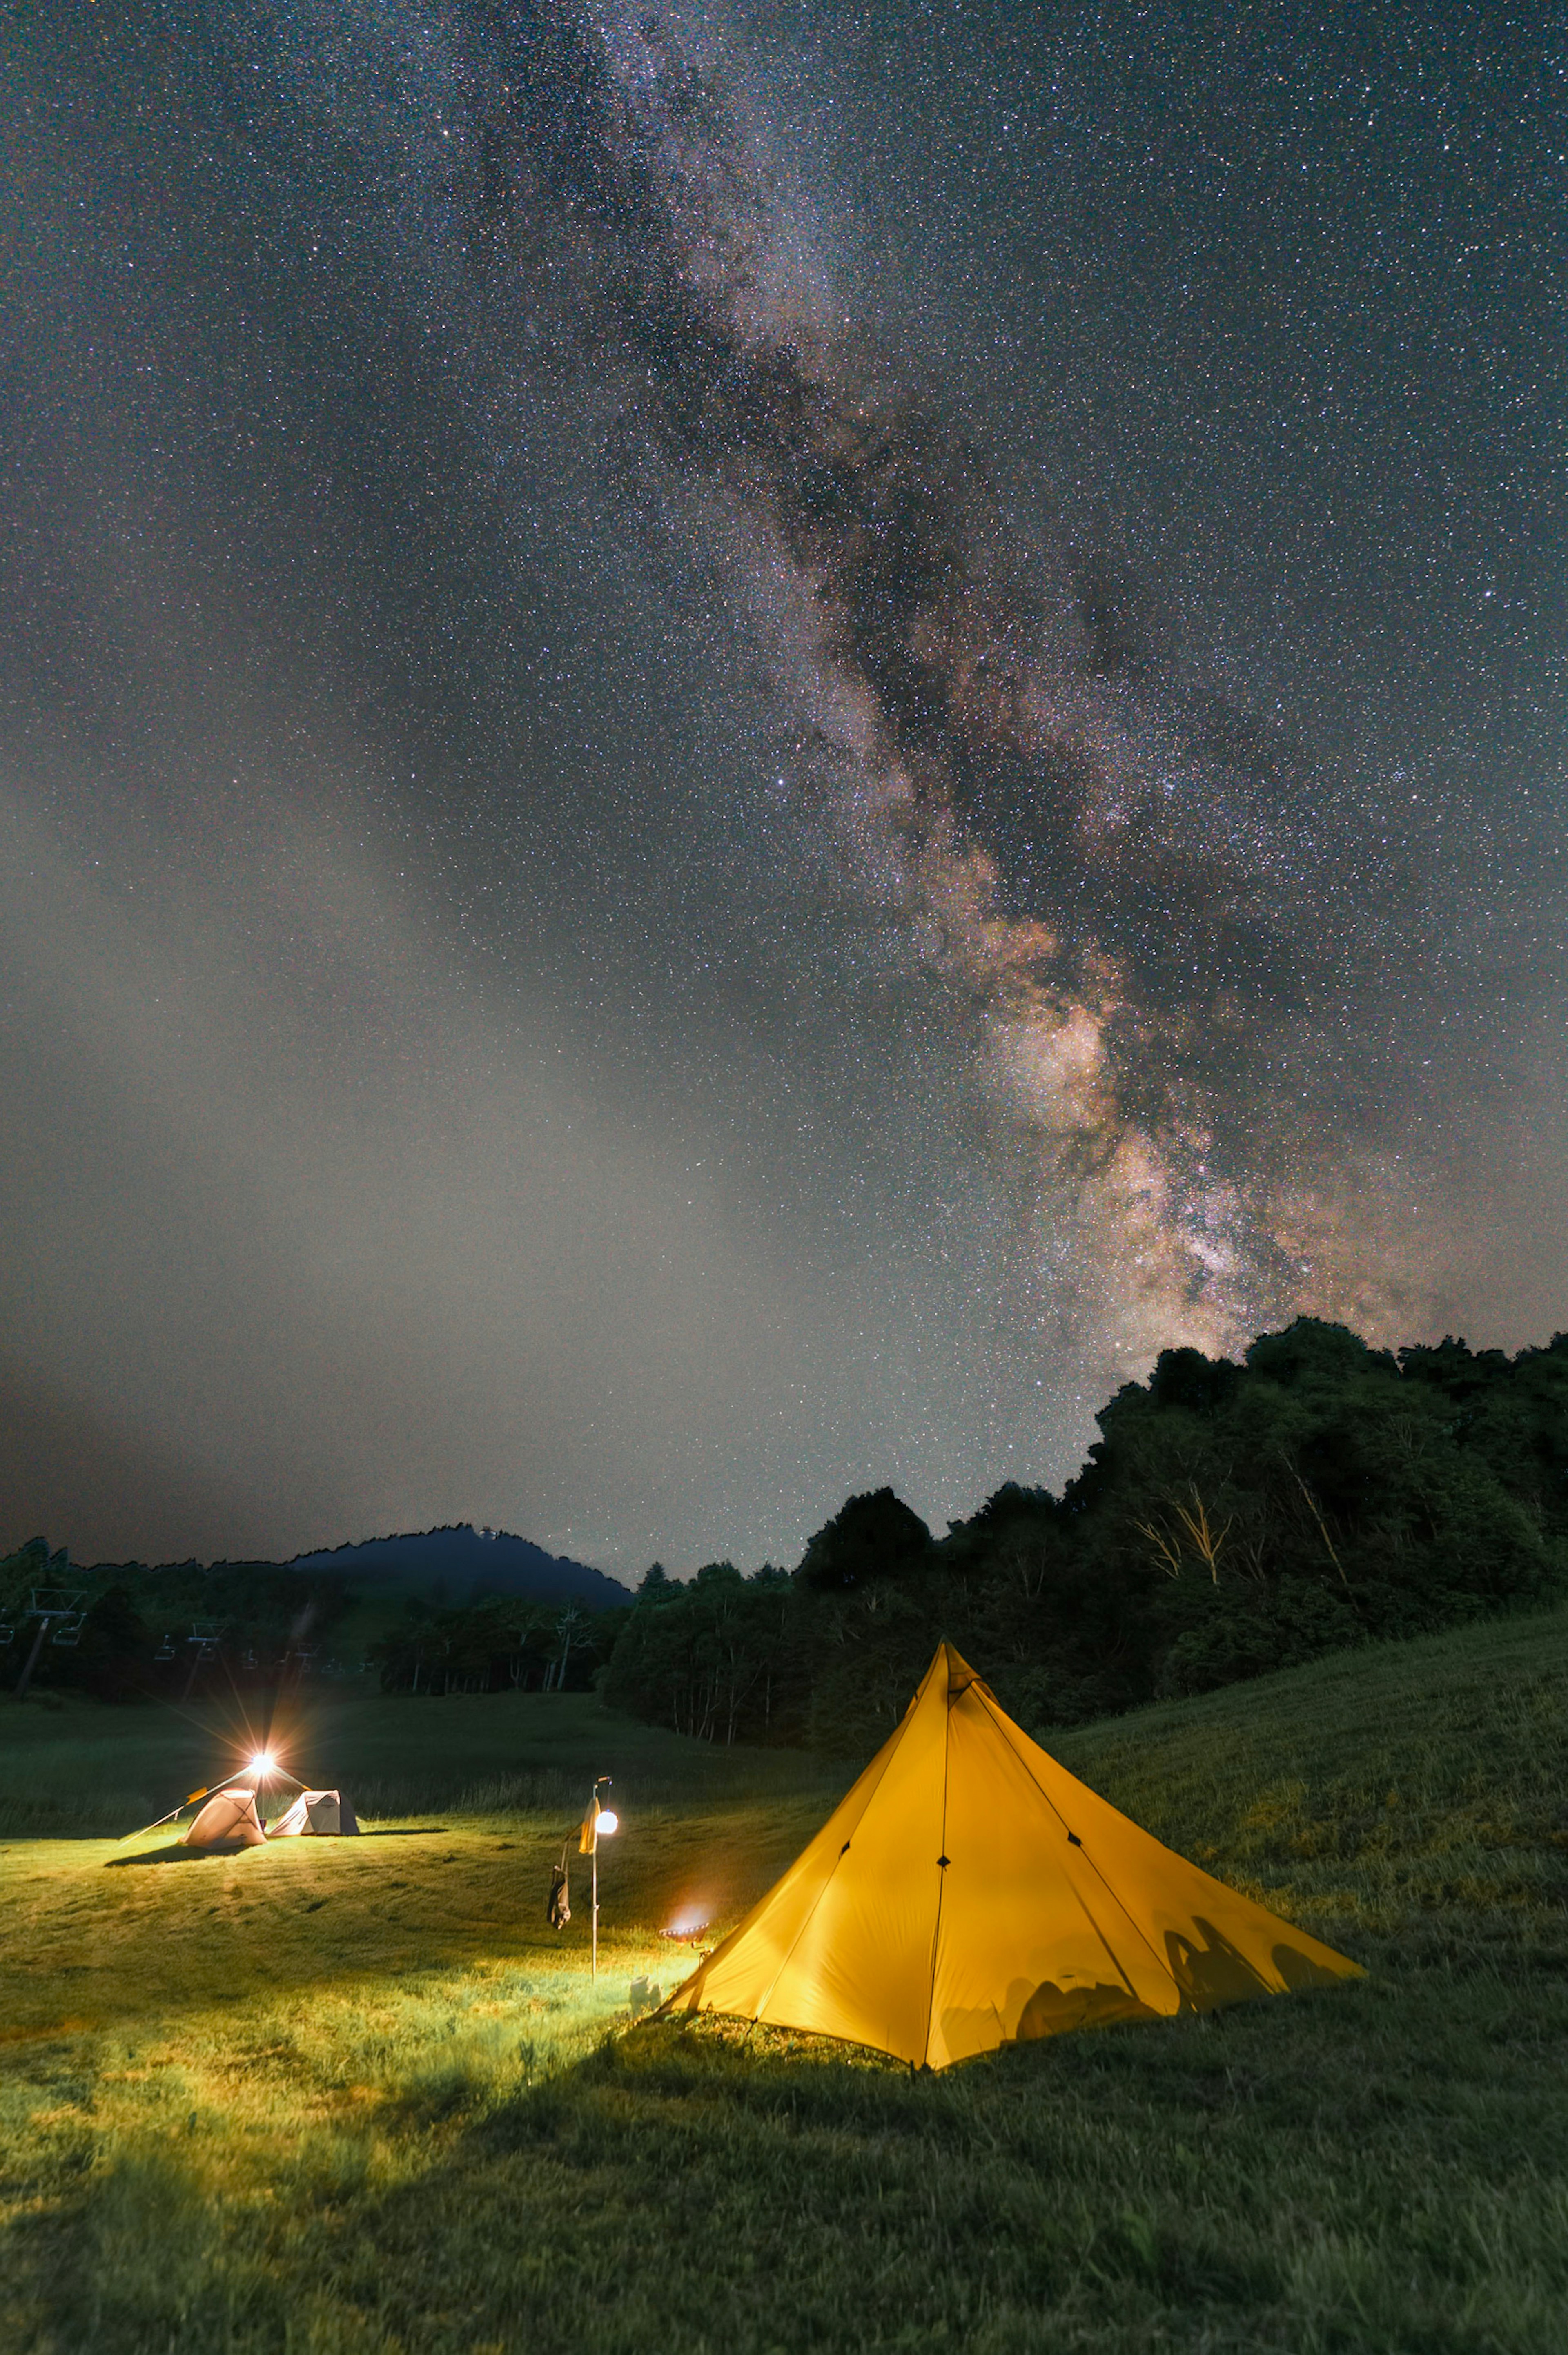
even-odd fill
[{"label": "starry night sky with the Milky Way above the treeline", "polygon": [[1561,9],[7,12],[0,1545],[1568,1326]]}]

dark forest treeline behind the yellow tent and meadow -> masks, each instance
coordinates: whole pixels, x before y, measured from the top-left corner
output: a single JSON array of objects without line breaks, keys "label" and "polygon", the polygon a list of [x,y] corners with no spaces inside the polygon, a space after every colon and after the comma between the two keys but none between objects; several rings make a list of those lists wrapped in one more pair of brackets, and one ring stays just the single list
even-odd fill
[{"label": "dark forest treeline behind the yellow tent and meadow", "polygon": [[[1050,1729],[1568,1587],[1568,1333],[1516,1356],[1464,1340],[1384,1352],[1297,1319],[1243,1361],[1165,1352],[1097,1425],[1062,1495],[1008,1481],[942,1535],[878,1488],[793,1568],[655,1564],[629,1606],[410,1594],[372,1665],[410,1698],[596,1686],[699,1740],[857,1754],[942,1637],[984,1663],[1010,1714]],[[202,1665],[191,1613],[207,1613],[207,1672],[226,1681],[348,1672],[330,1646],[356,1597],[327,1571],[92,1573],[33,1540],[0,1564],[7,1681],[42,1585],[80,1587],[82,1618],[71,1646],[42,1648],[40,1691],[184,1684]]]}]

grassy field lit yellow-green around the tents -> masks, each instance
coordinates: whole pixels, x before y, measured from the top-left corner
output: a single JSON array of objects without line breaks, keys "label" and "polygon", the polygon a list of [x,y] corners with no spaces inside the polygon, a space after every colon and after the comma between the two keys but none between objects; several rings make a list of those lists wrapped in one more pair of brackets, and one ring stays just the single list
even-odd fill
[{"label": "grassy field lit yellow-green around the tents", "polygon": [[[1568,1613],[1062,1736],[1370,1976],[913,2082],[631,2023],[690,1962],[659,1929],[718,1933],[817,1825],[810,1764],[570,1696],[332,1707],[292,1738],[400,1787],[388,1837],[0,1849],[7,2355],[1568,2343]],[[139,1712],[0,1714],[57,1827],[212,1771]],[[603,1771],[593,1988],[582,1877],[565,1936],[542,1900]]]}]

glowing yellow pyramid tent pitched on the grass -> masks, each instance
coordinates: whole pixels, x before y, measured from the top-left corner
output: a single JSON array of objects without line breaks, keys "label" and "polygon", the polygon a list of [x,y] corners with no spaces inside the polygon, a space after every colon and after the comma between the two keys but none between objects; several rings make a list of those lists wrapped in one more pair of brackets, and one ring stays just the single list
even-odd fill
[{"label": "glowing yellow pyramid tent pitched on the grass", "polygon": [[664,2009],[946,2068],[1358,1976],[1097,1799],[942,1644],[848,1799]]}]

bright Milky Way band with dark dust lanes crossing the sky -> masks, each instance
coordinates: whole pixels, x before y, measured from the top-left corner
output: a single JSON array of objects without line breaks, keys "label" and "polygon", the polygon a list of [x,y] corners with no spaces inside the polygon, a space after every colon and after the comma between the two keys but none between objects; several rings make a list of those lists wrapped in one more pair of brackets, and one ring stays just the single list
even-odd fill
[{"label": "bright Milky Way band with dark dust lanes crossing the sky", "polygon": [[636,429],[786,575],[824,784],[977,1010],[1036,1163],[1036,1272],[1132,1352],[1302,1307],[1420,1314],[1420,1251],[1387,1258],[1370,1057],[1323,1034],[1368,989],[1347,845],[1295,751],[1140,676],[1125,589],[1118,610],[1090,575],[1043,610],[984,455],[791,299],[725,94],[666,24],[476,24],[464,226],[490,266],[556,231]]}]

